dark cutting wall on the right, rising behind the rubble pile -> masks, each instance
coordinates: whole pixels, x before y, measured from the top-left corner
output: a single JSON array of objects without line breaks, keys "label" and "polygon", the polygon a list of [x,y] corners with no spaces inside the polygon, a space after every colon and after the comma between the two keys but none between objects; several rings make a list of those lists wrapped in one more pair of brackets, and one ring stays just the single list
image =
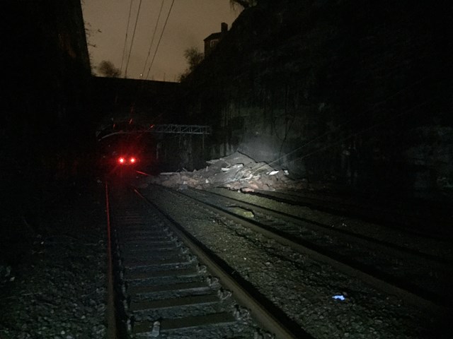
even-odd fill
[{"label": "dark cutting wall on the right, rising behind the rubble pile", "polygon": [[452,5],[258,1],[185,81],[211,158],[413,194],[453,184]]}]

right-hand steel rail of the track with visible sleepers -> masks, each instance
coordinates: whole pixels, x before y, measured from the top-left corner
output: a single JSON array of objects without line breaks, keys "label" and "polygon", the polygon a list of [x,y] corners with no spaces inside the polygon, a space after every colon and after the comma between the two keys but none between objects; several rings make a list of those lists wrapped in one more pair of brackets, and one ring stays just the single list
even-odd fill
[{"label": "right-hand steel rail of the track with visible sleepers", "polygon": [[[184,230],[182,227],[178,227],[178,222],[173,220],[170,215],[165,213],[159,206],[150,201],[147,197],[141,194],[137,189],[134,189],[135,193],[140,196],[144,201],[154,206],[165,218],[171,221],[171,229],[177,234],[177,236],[185,243],[193,253],[205,263],[213,275],[222,282],[226,288],[233,292],[234,298],[241,304],[251,310],[253,319],[256,319],[260,326],[266,328],[268,331],[275,335],[276,339],[314,339],[309,333],[306,333],[300,328],[297,323],[294,323],[289,319],[286,314],[283,314],[280,309],[277,309],[270,302],[265,302],[262,296],[257,296],[257,292],[253,292],[251,286],[244,288],[243,285],[247,284],[243,278],[241,278],[235,270],[228,270],[222,259],[213,254],[207,247],[202,245],[195,239],[189,232]],[[240,281],[239,281],[240,280]],[[248,284],[249,285],[249,284]],[[258,300],[260,299],[260,300]],[[266,299],[267,300],[267,299]],[[264,302],[263,302],[264,301]],[[281,313],[279,316],[275,316],[275,313]]]}]

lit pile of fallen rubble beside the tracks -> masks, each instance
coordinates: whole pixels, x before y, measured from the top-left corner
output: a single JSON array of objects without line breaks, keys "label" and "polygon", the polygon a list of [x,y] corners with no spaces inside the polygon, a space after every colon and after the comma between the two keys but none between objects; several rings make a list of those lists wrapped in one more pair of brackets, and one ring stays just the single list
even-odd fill
[{"label": "lit pile of fallen rubble beside the tracks", "polygon": [[234,191],[275,191],[302,189],[304,182],[295,182],[288,172],[275,169],[265,162],[256,162],[247,155],[235,152],[227,157],[207,161],[209,166],[193,172],[166,172],[147,177],[146,184],[160,184],[175,189],[188,186],[196,189],[224,187]]}]

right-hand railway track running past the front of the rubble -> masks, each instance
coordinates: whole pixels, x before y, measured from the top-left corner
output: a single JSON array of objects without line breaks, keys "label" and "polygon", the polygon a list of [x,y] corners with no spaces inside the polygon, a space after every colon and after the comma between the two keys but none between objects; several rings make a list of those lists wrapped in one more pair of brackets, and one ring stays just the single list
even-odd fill
[{"label": "right-hand railway track running past the front of the rubble", "polygon": [[[155,189],[163,190],[161,187]],[[417,307],[435,313],[452,307],[452,294],[448,292],[451,258],[447,260],[411,246],[383,242],[207,191],[188,189],[170,192],[175,198],[181,195],[190,198],[204,208],[214,209],[216,213],[251,227],[294,251],[309,254],[317,261],[359,277]],[[448,250],[449,245],[444,246]]]}]

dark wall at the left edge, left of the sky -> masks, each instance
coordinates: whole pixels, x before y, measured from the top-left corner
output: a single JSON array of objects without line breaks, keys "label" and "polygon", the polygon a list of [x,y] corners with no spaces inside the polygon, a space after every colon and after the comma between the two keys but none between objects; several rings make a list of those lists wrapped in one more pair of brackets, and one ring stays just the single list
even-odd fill
[{"label": "dark wall at the left edge, left of the sky", "polygon": [[0,23],[1,207],[25,213],[88,147],[91,71],[79,0],[7,0]]}]

